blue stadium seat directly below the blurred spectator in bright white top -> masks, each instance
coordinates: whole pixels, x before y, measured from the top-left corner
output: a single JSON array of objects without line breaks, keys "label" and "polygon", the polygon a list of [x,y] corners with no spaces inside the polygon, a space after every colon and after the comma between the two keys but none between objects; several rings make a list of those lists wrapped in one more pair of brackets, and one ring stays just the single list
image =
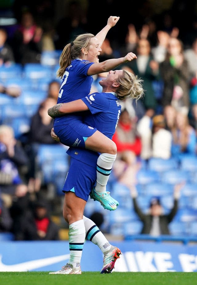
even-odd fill
[{"label": "blue stadium seat directly below the blurred spectator in bright white top", "polygon": [[167,171],[178,168],[178,160],[175,158],[161,159],[161,158],[150,158],[147,162],[147,169],[155,171]]}]

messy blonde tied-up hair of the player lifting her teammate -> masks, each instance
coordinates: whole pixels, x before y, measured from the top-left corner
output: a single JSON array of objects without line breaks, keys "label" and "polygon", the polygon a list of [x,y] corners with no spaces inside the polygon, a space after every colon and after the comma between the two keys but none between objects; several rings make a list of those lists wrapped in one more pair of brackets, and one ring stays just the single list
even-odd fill
[{"label": "messy blonde tied-up hair of the player lifting her teammate", "polygon": [[120,84],[116,89],[119,100],[132,98],[137,101],[144,96],[144,89],[142,86],[143,80],[138,78],[138,76],[132,72],[123,70],[123,75],[119,76],[117,82]]}]

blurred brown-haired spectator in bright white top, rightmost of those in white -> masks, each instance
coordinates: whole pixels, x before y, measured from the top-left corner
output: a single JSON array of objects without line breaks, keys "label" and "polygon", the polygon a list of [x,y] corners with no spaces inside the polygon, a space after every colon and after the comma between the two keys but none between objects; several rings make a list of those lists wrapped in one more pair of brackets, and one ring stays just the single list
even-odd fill
[{"label": "blurred brown-haired spectator in bright white top, rightmost of those in white", "polygon": [[172,134],[166,129],[165,117],[152,118],[152,157],[169,159],[171,157]]}]

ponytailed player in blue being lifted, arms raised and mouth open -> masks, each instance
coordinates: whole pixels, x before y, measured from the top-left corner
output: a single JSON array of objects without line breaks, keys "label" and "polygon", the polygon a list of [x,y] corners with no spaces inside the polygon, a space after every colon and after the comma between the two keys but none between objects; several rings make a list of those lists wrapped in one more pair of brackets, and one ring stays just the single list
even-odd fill
[{"label": "ponytailed player in blue being lifted, arms raised and mouth open", "polygon": [[[67,44],[60,56],[57,76],[62,78],[57,103],[66,103],[83,98],[90,93],[92,75],[107,72],[119,64],[131,61],[136,55],[129,52],[125,57],[99,63],[98,56],[107,32],[119,17],[110,16],[107,25],[96,35],[82,34]],[[94,95],[90,98],[94,101]],[[97,183],[94,199],[105,209],[115,210],[118,202],[106,192],[112,165],[116,158],[115,143],[96,128],[83,123],[84,114],[70,113],[54,119],[54,132],[66,146],[86,148],[101,153],[97,161]]]}]

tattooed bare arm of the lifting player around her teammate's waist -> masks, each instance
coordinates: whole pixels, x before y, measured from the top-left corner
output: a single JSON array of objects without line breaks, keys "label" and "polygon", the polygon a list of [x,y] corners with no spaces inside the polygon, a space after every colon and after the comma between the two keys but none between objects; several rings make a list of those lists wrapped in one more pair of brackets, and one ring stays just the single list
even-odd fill
[{"label": "tattooed bare arm of the lifting player around her teammate's waist", "polygon": [[81,100],[75,100],[68,103],[59,103],[48,109],[48,115],[52,118],[65,114],[87,111],[87,105]]}]

